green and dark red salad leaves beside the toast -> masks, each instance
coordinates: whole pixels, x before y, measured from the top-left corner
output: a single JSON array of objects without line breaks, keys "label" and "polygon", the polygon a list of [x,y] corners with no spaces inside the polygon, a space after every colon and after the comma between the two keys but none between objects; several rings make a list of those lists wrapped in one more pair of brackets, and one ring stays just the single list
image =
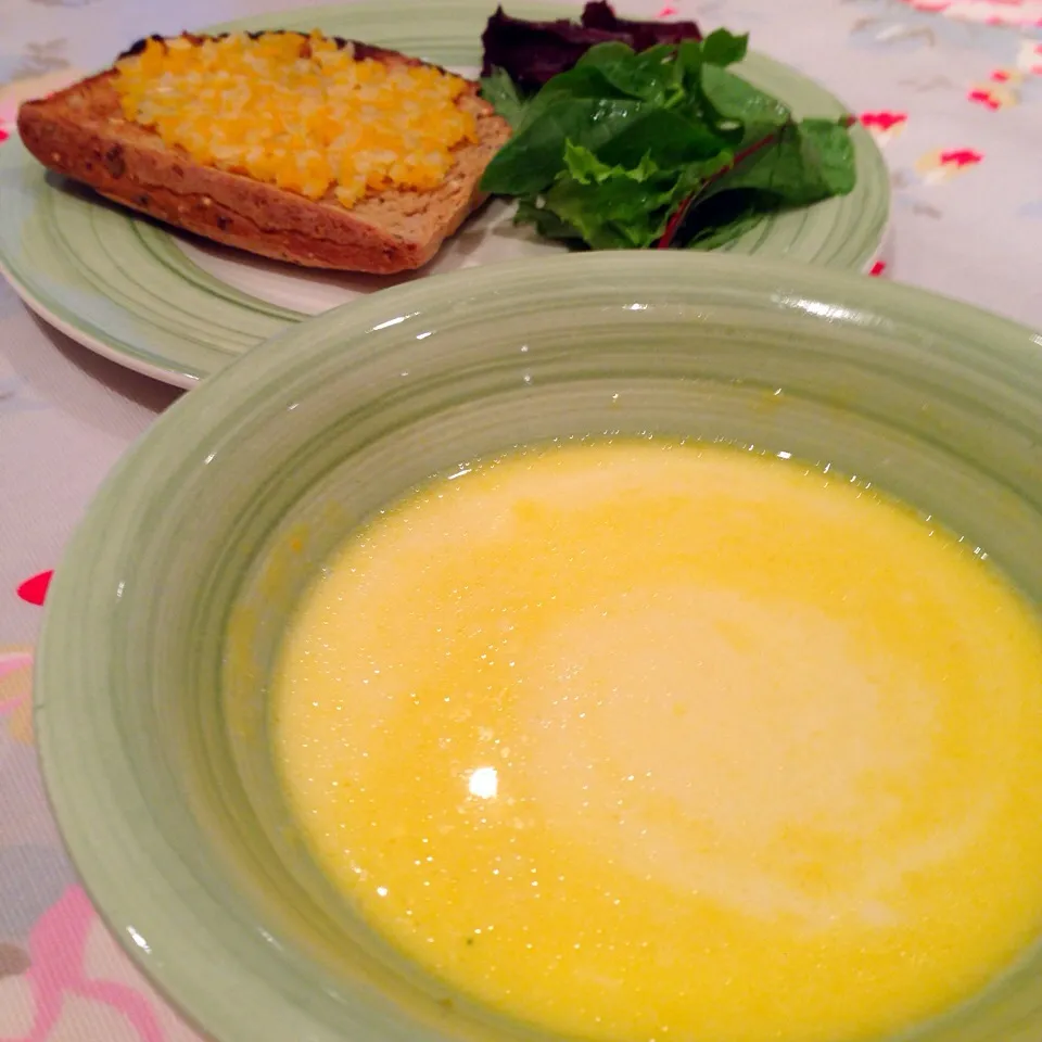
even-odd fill
[{"label": "green and dark red salad leaves beside the toast", "polygon": [[[641,48],[651,24],[590,9],[615,28],[588,28],[585,15],[580,26],[522,23],[500,10],[483,38],[482,92],[513,136],[482,189],[516,198],[519,223],[594,250],[712,249],[772,212],[854,187],[848,119],[796,120],[729,71],[747,36],[701,39],[677,23],[687,38]],[[525,37],[511,48],[517,26]]]}]

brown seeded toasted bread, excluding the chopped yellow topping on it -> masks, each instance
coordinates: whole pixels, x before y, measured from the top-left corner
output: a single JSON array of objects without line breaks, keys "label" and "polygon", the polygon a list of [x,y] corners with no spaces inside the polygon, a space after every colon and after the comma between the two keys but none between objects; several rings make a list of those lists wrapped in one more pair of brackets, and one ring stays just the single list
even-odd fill
[{"label": "brown seeded toasted bread, excluding the chopped yellow topping on it", "polygon": [[[396,51],[338,43],[353,47],[358,59],[425,64]],[[445,180],[429,191],[387,189],[345,208],[331,192],[313,202],[168,148],[155,131],[124,118],[117,75],[113,67],[23,104],[18,130],[29,152],[46,167],[166,224],[306,267],[391,275],[427,264],[483,202],[481,176],[510,136],[478,85],[469,84],[458,104],[474,114],[478,142],[454,151]]]}]

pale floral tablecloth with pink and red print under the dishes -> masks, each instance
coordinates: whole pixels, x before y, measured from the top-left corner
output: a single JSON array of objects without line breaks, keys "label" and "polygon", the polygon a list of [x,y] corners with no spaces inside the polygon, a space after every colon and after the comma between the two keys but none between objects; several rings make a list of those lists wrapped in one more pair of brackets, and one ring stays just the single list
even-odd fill
[{"label": "pale floral tablecloth with pink and red print under the dishes", "polygon": [[[1042,328],[1042,0],[660,3],[621,5],[748,29],[757,49],[821,80],[873,130],[893,187],[884,277]],[[21,99],[107,64],[138,37],[285,5],[0,0],[0,148]],[[195,1038],[77,885],[29,711],[49,572],[105,472],[178,394],[48,328],[0,281],[2,1042]]]}]

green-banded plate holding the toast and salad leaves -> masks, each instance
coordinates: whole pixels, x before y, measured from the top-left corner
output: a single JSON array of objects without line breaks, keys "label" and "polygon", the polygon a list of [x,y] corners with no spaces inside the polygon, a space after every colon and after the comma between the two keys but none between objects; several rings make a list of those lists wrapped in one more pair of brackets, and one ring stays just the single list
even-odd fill
[{"label": "green-banded plate holding the toast and salad leaves", "polygon": [[[291,10],[220,29],[310,29],[381,43],[457,69],[481,61],[480,36],[494,0],[417,5],[381,0]],[[559,5],[509,3],[546,17]],[[741,74],[799,116],[839,116],[828,91],[761,54]],[[857,186],[842,199],[782,214],[724,247],[860,271],[875,259],[890,200],[886,164],[872,137],[853,130]],[[420,276],[395,279],[307,271],[171,233],[45,173],[21,142],[0,152],[0,270],[42,318],[120,365],[192,386],[308,315],[410,278],[522,257],[552,256],[558,244],[513,227],[494,202]]]}]

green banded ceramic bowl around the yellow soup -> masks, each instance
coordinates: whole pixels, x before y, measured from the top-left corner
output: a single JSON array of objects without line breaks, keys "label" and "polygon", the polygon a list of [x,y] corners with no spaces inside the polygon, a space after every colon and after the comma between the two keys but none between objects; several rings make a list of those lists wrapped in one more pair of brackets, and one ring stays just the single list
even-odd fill
[{"label": "green banded ceramic bowl around the yellow soup", "polygon": [[[1042,601],[1042,336],[877,280],[719,256],[504,264],[331,312],[191,392],[58,570],[47,785],[110,928],[217,1042],[536,1038],[407,964],[295,837],[267,691],[352,529],[476,455],[598,432],[723,439],[888,490]],[[911,1032],[1037,1042],[1042,952]]]}]

